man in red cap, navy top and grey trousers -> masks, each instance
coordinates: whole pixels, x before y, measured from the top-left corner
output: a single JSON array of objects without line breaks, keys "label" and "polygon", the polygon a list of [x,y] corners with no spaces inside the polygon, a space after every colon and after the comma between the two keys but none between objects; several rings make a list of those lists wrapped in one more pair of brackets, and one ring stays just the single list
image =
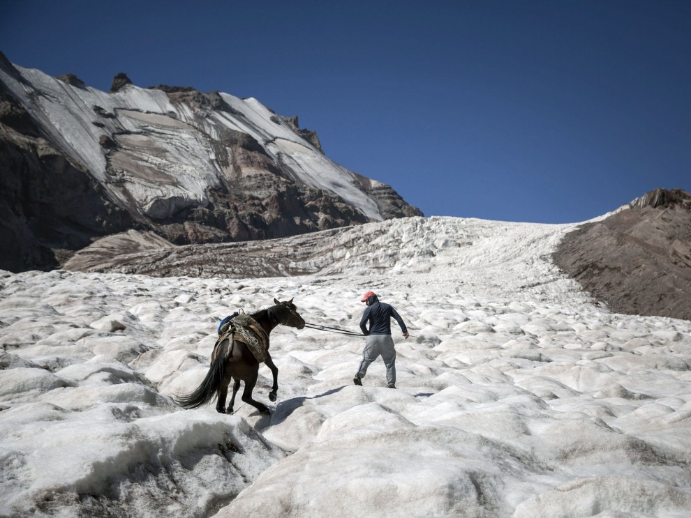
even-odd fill
[{"label": "man in red cap, navy top and grey trousers", "polygon": [[[407,339],[410,335],[408,335],[406,324],[403,323],[398,312],[392,306],[380,302],[373,291],[364,294],[360,302],[367,305],[362,314],[362,320],[360,320],[360,329],[366,335],[367,342],[364,351],[362,351],[362,362],[360,362],[360,367],[352,382],[362,386],[360,380],[364,378],[367,367],[381,355],[384,365],[386,365],[388,387],[396,388],[396,350],[394,349],[394,340],[391,337],[391,317],[394,317],[399,323],[403,336]],[[366,327],[368,321],[369,330]]]}]

